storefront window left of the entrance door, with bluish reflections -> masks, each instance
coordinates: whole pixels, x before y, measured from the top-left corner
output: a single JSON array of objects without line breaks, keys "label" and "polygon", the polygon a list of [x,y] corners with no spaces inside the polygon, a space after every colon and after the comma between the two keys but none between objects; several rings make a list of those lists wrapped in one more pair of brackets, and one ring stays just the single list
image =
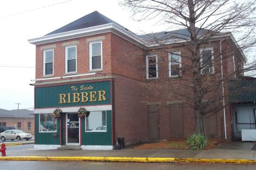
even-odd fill
[{"label": "storefront window left of the entrance door, with bluish reflections", "polygon": [[52,114],[40,114],[39,132],[57,132],[57,121]]}]

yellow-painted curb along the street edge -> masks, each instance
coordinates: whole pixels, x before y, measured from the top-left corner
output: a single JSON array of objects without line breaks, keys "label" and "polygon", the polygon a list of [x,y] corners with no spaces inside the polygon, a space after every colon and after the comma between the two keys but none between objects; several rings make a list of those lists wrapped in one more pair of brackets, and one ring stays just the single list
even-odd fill
[{"label": "yellow-painted curb along the street edge", "polygon": [[194,159],[194,158],[141,158],[141,157],[0,157],[0,160],[37,160],[37,161],[115,161],[115,162],[137,162],[137,163],[236,163],[256,164],[256,159]]}]

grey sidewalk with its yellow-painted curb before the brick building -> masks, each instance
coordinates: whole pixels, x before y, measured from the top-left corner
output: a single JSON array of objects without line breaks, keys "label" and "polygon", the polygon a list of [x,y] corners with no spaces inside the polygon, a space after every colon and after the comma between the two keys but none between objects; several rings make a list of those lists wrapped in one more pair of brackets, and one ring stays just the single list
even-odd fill
[{"label": "grey sidewalk with its yellow-painted curb before the brick building", "polygon": [[[227,147],[221,147],[219,149],[211,150],[172,150],[172,149],[133,149],[125,148],[121,150],[34,150],[27,149],[17,153],[17,151],[6,150],[8,157],[66,157],[68,160],[71,157],[100,157],[100,161],[108,160],[104,158],[123,157],[129,158],[174,158],[173,160],[179,161],[207,161],[207,162],[236,162],[236,163],[256,163],[256,151],[249,150],[251,147],[246,147],[248,144],[244,144],[243,148],[228,149]],[[1,157],[0,157],[1,158]],[[2,157],[3,158],[3,157]],[[183,159],[180,159],[183,158]],[[231,160],[230,160],[231,159]],[[1,159],[0,159],[1,160]],[[80,160],[80,159],[78,159]],[[90,160],[81,159],[81,160]],[[95,159],[94,159],[95,160]],[[97,159],[96,159],[97,160]],[[226,161],[225,161],[226,160]],[[111,161],[111,160],[110,160]],[[121,161],[121,160],[115,160]],[[170,160],[169,160],[170,161]]]}]

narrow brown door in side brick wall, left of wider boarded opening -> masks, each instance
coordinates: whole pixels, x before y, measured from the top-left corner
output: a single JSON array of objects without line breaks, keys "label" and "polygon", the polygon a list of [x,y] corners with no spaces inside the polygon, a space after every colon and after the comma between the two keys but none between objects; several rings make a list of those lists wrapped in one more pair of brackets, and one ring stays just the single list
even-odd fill
[{"label": "narrow brown door in side brick wall, left of wider boarded opening", "polygon": [[149,139],[159,140],[158,106],[148,106],[149,113]]}]

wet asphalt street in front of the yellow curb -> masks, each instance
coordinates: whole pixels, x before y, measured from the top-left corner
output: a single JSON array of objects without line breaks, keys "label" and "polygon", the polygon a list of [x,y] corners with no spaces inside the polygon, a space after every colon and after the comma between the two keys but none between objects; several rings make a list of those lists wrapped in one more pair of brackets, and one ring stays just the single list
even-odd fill
[{"label": "wet asphalt street in front of the yellow curb", "polygon": [[11,169],[87,169],[87,170],[101,170],[101,169],[147,169],[147,170],[166,170],[166,169],[181,169],[181,170],[226,170],[226,169],[255,169],[255,165],[221,165],[221,164],[177,164],[177,163],[108,163],[108,162],[80,162],[80,161],[1,161],[1,170]]}]

